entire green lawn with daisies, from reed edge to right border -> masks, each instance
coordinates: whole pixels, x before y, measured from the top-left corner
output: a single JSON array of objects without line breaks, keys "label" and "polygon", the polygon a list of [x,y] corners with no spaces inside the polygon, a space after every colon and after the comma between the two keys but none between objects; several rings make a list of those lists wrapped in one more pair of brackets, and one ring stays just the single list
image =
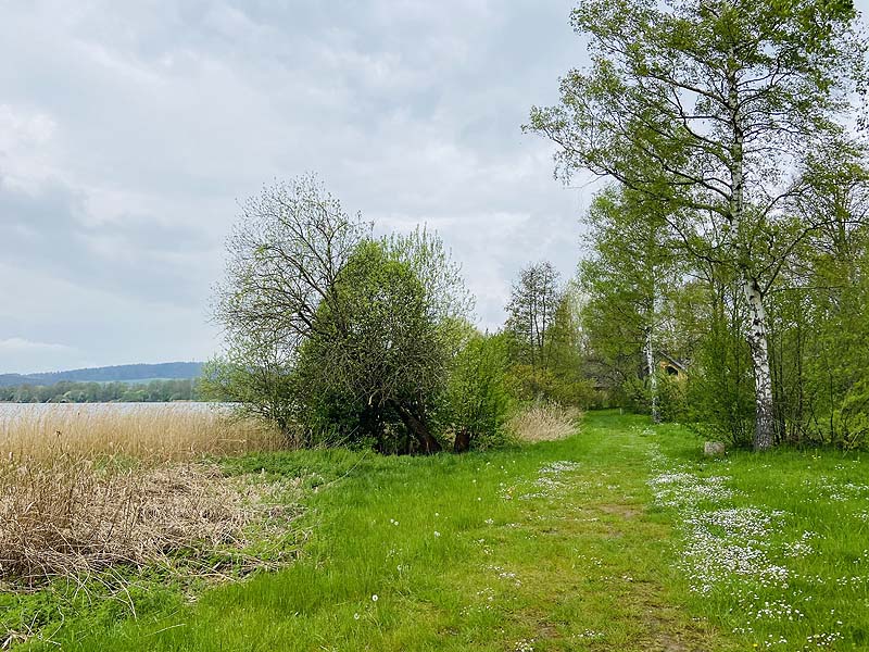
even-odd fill
[{"label": "entire green lawn with daisies, from reed edge to right border", "polygon": [[[832,649],[866,649],[865,463],[829,452],[713,462],[701,443],[678,426],[592,413],[575,437],[512,450],[228,461],[227,473],[310,478],[298,527],[311,536],[291,567],[193,592],[166,587],[138,595],[136,619],[79,611],[46,630],[63,650],[729,651],[782,638],[773,649],[801,650],[835,626]],[[673,468],[697,486],[725,477],[716,487],[733,494],[668,506],[654,491],[671,486],[650,479]],[[837,490],[851,493],[824,498]],[[765,559],[788,567],[789,588],[723,574],[692,592],[685,519],[750,506],[784,512]],[[813,552],[790,546],[804,531],[817,535],[805,539]],[[835,582],[844,577],[858,579]],[[761,605],[786,598],[806,616],[758,620],[748,594]]]}]

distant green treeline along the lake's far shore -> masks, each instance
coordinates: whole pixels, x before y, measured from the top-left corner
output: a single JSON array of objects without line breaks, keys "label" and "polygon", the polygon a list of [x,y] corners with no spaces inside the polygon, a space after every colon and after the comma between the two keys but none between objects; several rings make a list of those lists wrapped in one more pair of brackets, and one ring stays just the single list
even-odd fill
[{"label": "distant green treeline along the lake's far shore", "polygon": [[0,402],[15,403],[108,403],[200,400],[197,378],[149,383],[72,383],[0,387]]}]

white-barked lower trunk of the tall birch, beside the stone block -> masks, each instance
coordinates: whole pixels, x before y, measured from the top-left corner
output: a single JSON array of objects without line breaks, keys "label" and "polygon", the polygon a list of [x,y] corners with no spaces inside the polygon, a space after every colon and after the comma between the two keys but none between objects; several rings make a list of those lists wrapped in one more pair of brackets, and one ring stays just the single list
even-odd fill
[{"label": "white-barked lower trunk of the tall birch, beside the stone block", "polygon": [[774,410],[772,401],[772,374],[767,343],[767,313],[764,297],[753,280],[745,280],[743,291],[748,302],[748,349],[754,366],[754,394],[756,415],[754,450],[766,451],[774,443]]}]

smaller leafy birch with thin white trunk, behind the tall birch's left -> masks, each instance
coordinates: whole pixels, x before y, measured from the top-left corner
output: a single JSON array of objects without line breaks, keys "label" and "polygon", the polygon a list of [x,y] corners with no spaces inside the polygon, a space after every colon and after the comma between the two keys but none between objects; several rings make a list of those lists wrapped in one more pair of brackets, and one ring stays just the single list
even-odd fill
[{"label": "smaller leafy birch with thin white trunk, behind the tall birch's left", "polygon": [[590,252],[579,266],[587,297],[582,330],[597,384],[610,400],[643,412],[654,406],[658,418],[664,418],[658,404],[664,400],[671,403],[668,413],[679,412],[675,390],[659,391],[657,376],[653,383],[663,352],[680,360],[691,354],[672,328],[684,262],[673,254],[669,217],[641,193],[607,188],[587,215]]}]

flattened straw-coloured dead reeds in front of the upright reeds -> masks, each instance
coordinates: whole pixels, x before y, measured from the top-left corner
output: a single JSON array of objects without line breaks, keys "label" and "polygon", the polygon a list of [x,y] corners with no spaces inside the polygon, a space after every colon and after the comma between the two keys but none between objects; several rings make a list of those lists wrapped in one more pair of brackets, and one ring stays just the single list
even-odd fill
[{"label": "flattened straw-coloured dead reeds in front of the upright reeds", "polygon": [[58,577],[84,581],[117,565],[169,568],[179,552],[187,566],[213,563],[222,548],[242,549],[252,524],[286,527],[286,493],[299,486],[298,478],[279,487],[225,478],[202,463],[130,468],[68,454],[7,461],[0,581],[35,587]]}]

